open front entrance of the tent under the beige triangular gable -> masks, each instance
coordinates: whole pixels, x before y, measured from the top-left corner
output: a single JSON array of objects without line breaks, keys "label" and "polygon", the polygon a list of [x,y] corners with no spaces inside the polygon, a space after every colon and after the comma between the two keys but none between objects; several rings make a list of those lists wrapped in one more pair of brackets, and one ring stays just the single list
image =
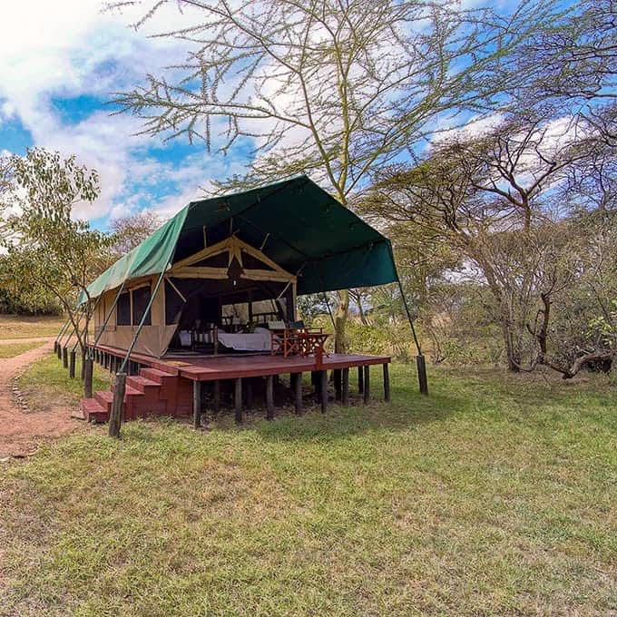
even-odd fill
[{"label": "open front entrance of the tent under the beige triangular gable", "polygon": [[295,320],[296,282],[234,236],[176,262],[165,277],[168,353],[268,352],[263,328]]}]

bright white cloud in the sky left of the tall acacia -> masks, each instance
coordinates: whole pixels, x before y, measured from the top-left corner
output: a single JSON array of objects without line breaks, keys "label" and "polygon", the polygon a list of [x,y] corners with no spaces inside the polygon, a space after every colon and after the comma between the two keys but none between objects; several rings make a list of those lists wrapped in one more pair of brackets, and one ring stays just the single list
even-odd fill
[{"label": "bright white cloud in the sky left of the tall acacia", "polygon": [[[203,165],[176,168],[156,163],[140,199],[132,199],[132,186],[147,173],[142,159],[148,148],[161,147],[153,138],[135,136],[139,122],[128,115],[94,111],[80,122],[68,122],[54,108],[53,97],[93,95],[103,100],[113,91],[132,88],[148,72],[156,73],[170,58],[183,55],[185,45],[147,34],[186,24],[194,15],[181,14],[175,5],[163,8],[137,33],[127,25],[142,15],[143,7],[122,15],[101,13],[100,0],[40,0],[3,6],[0,20],[0,123],[19,120],[32,134],[34,144],[76,154],[99,171],[101,198],[94,207],[76,214],[91,220],[135,207],[154,189],[156,181],[186,184],[181,194],[165,198],[166,210],[177,208],[206,179]],[[218,164],[218,171],[230,162]],[[199,168],[199,169],[198,169]],[[173,177],[171,177],[173,176]],[[135,189],[139,192],[139,189]]]}]

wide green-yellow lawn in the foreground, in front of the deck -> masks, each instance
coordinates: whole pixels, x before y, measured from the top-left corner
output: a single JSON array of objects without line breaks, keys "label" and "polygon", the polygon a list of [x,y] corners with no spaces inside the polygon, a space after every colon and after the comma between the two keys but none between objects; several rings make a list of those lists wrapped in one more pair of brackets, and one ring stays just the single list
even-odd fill
[{"label": "wide green-yellow lawn in the foreground, in front of the deck", "polygon": [[610,385],[392,373],[389,405],[98,427],[5,466],[0,613],[614,610]]}]

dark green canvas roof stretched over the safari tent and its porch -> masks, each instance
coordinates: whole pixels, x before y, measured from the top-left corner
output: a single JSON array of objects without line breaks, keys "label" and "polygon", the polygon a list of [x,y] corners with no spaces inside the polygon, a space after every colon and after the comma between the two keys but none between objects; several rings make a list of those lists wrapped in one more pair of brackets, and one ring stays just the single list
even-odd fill
[{"label": "dark green canvas roof stretched over the safari tent and its porch", "polygon": [[281,268],[298,274],[298,293],[382,285],[397,280],[389,240],[306,176],[191,201],[88,287],[91,298],[125,280],[161,273],[235,233]]}]

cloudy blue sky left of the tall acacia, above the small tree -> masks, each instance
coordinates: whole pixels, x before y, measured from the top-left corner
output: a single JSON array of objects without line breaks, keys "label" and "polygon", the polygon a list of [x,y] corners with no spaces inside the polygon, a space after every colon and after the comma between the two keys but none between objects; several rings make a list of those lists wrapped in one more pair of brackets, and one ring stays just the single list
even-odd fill
[{"label": "cloudy blue sky left of the tall acacia, above the small tree", "polygon": [[[105,228],[110,217],[151,209],[169,216],[208,189],[208,181],[243,171],[249,144],[226,157],[203,144],[136,135],[132,116],[113,115],[113,92],[179,59],[181,44],[148,34],[191,19],[174,7],[147,28],[139,15],[101,13],[100,0],[39,0],[3,6],[0,20],[0,151],[34,144],[76,154],[97,169],[102,194],[78,214]],[[244,145],[244,147],[242,147]]]}]

